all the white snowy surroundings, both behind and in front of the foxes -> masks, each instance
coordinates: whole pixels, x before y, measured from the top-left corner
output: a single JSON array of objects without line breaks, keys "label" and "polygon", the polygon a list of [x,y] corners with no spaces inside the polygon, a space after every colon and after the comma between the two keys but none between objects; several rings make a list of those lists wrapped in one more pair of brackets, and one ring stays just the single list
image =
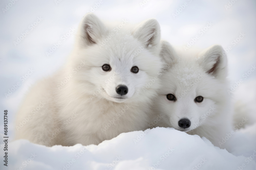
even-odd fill
[{"label": "all the white snowy surroundings, both behind and in front of the foxes", "polygon": [[[6,7],[11,2],[15,3],[9,5],[11,6],[9,8]],[[55,0],[0,2],[2,12],[0,12],[0,110],[2,112],[8,109],[10,140],[13,139],[15,113],[27,89],[35,81],[52,74],[65,62],[67,54],[72,49],[74,33],[66,38],[64,34],[76,29],[81,17],[99,2],[99,0],[75,2],[62,0],[59,3]],[[187,6],[184,8],[185,3]],[[230,8],[227,7],[228,5]],[[184,9],[180,9],[182,7]],[[180,12],[174,17],[176,10]],[[102,0],[102,4],[94,13],[104,20],[126,19],[134,23],[147,18],[156,18],[161,26],[162,37],[176,46],[186,46],[196,35],[200,35],[200,38],[195,42],[194,47],[205,48],[212,44],[220,44],[227,49],[231,46],[231,49],[227,50],[230,89],[234,89],[232,97],[236,101],[235,106],[245,106],[250,125],[236,131],[228,138],[227,150],[230,153],[212,146],[207,139],[164,128],[152,129],[146,135],[142,135],[141,131],[120,134],[112,140],[104,141],[98,146],[87,146],[85,149],[79,144],[72,147],[47,148],[25,140],[13,141],[8,145],[8,167],[3,166],[3,146],[0,148],[0,162],[2,162],[0,169],[153,170],[156,166],[158,169],[255,169],[256,71],[248,74],[251,67],[256,64],[254,0],[150,0],[148,2]],[[213,25],[203,35],[199,34],[208,22]],[[26,30],[29,33],[24,39],[18,44],[14,43],[17,42],[17,37],[25,35]],[[240,34],[245,35],[235,43],[234,39]],[[61,41],[61,45],[47,56],[46,52],[49,52],[58,41]],[[20,79],[29,69],[35,71],[26,80]],[[241,79],[242,83],[237,87],[236,84]],[[8,90],[17,83],[20,85],[6,96],[5,93],[8,94]],[[1,118],[2,136],[3,128]],[[140,139],[137,135],[143,137]],[[138,142],[135,144],[134,140]],[[78,157],[79,154],[81,155]],[[33,155],[36,156],[30,162]],[[75,162],[68,167],[68,162],[70,163],[72,159]]]}]

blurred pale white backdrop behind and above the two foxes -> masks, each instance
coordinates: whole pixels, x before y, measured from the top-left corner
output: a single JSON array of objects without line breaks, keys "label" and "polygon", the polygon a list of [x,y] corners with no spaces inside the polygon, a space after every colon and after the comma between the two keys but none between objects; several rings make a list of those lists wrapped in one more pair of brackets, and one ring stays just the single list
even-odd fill
[{"label": "blurred pale white backdrop behind and above the two foxes", "polygon": [[[11,1],[8,0],[0,2],[0,112],[8,109],[9,126],[14,121],[14,115],[27,89],[38,79],[53,74],[71,52],[75,34],[71,34],[65,41],[62,36],[67,34],[70,28],[76,29],[82,16],[91,11],[95,3],[100,4],[99,1],[71,0],[61,2],[13,0],[14,4],[10,3]],[[187,6],[184,8],[185,3]],[[11,7],[6,7],[8,4]],[[181,12],[174,17],[176,10]],[[231,46],[232,49],[228,52],[231,85],[239,79],[243,79],[243,84],[255,80],[256,71],[247,79],[242,77],[252,65],[256,64],[255,0],[232,0],[232,2],[229,0],[150,0],[148,2],[102,0],[102,4],[94,13],[102,20],[126,19],[130,23],[156,18],[161,26],[162,38],[175,46],[186,46],[196,35],[200,38],[195,42],[194,47],[206,48],[213,44],[220,44],[223,48]],[[38,17],[41,21],[35,23],[39,21]],[[199,31],[208,22],[213,25],[200,35]],[[33,30],[31,24],[34,25]],[[20,43],[14,44],[14,41],[17,42],[17,37],[24,35],[26,30],[29,34]],[[238,38],[240,33],[244,33],[245,36],[233,46],[232,41]],[[61,45],[47,56],[46,52],[49,52],[58,41],[61,41]],[[29,69],[33,69],[34,72],[22,82],[20,77],[28,73]],[[5,93],[8,93],[8,89],[17,82],[21,85],[6,97]],[[250,94],[255,98],[256,94],[251,93],[247,91],[244,95]],[[0,127],[2,133],[3,118]],[[12,134],[11,126],[9,135]]]}]

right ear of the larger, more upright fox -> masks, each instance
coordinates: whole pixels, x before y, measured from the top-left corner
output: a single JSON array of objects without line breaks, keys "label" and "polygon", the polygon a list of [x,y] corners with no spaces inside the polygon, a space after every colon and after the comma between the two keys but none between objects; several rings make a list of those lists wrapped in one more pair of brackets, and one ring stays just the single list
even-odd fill
[{"label": "right ear of the larger, more upright fox", "polygon": [[133,35],[148,49],[154,49],[154,47],[158,49],[160,45],[160,25],[156,19],[142,22],[135,28]]}]

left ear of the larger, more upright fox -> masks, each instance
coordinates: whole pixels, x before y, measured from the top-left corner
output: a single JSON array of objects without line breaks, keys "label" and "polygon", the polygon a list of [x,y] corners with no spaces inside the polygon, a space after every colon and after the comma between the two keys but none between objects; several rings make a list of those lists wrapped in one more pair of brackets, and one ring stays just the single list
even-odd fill
[{"label": "left ear of the larger, more upright fox", "polygon": [[87,13],[79,24],[77,41],[83,46],[97,44],[102,36],[106,34],[106,30],[106,27],[96,15]]}]

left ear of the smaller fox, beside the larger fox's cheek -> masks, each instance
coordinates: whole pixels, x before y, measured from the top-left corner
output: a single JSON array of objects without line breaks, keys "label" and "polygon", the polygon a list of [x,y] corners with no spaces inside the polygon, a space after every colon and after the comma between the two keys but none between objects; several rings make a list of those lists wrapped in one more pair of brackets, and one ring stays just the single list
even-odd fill
[{"label": "left ear of the smaller fox, beside the larger fox's cheek", "polygon": [[177,62],[177,55],[173,47],[165,40],[161,40],[160,57],[166,64],[166,67],[172,67]]}]

